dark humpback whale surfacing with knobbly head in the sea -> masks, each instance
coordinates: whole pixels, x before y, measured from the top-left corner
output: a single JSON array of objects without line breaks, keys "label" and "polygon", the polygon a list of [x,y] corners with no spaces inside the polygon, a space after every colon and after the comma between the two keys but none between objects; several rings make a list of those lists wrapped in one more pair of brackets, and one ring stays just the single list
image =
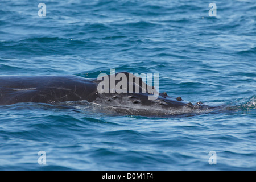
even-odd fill
[{"label": "dark humpback whale surfacing with knobbly head in the sea", "polygon": [[[131,74],[121,73],[126,76]],[[106,77],[110,78],[111,75]],[[164,115],[171,114],[173,110],[209,108],[201,102],[192,104],[181,97],[170,97],[166,92],[157,92],[154,86],[152,88],[154,93],[157,92],[158,97],[155,100],[149,100],[148,96],[152,95],[152,92],[148,92],[148,87],[142,92],[144,86],[148,85],[142,81],[141,77],[134,76],[134,80],[128,80],[126,85],[122,85],[123,88],[128,88],[129,85],[137,84],[139,92],[135,92],[134,88],[133,92],[127,93],[99,93],[98,86],[101,82],[101,79],[73,75],[0,76],[0,105],[19,102],[56,104],[67,101],[86,101],[117,113],[131,115]],[[115,80],[114,84],[117,85],[118,82]]]}]

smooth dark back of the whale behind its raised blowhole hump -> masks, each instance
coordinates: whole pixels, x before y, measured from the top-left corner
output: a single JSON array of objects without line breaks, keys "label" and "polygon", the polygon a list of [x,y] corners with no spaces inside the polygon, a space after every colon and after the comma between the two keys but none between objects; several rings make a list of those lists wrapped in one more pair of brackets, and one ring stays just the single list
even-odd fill
[{"label": "smooth dark back of the whale behind its raised blowhole hump", "polygon": [[95,90],[79,76],[0,76],[0,105],[95,100]]}]

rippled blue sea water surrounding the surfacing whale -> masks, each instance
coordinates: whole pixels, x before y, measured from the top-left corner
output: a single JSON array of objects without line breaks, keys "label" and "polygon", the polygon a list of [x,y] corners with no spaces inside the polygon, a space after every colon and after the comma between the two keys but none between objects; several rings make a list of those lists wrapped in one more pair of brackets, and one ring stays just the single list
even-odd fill
[{"label": "rippled blue sea water surrounding the surfacing whale", "polygon": [[217,16],[209,3],[0,0],[0,75],[159,73],[160,92],[232,108],[160,118],[0,106],[0,169],[255,170],[256,2],[213,1]]}]

